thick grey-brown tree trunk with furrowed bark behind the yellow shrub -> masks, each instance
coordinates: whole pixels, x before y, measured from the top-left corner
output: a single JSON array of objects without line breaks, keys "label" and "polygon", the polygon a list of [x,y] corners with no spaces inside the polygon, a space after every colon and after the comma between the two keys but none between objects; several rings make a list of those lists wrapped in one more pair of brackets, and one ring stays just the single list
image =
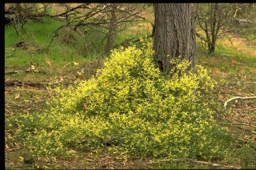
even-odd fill
[{"label": "thick grey-brown tree trunk with furrowed bark behind the yellow shrub", "polygon": [[191,61],[188,70],[196,72],[195,18],[191,3],[156,3],[153,27],[153,50],[163,72],[174,66],[170,61],[180,57]]}]

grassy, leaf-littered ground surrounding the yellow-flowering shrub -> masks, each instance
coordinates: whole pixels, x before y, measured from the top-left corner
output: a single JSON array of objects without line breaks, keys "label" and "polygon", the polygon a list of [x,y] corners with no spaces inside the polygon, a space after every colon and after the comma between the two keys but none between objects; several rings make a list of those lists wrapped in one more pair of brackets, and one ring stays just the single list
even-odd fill
[{"label": "grassy, leaf-littered ground surrounding the yellow-flowering shrub", "polygon": [[[105,62],[101,55],[102,35],[79,28],[77,32],[64,30],[55,38],[48,50],[54,29],[59,27],[60,21],[49,18],[42,22],[29,23],[20,29],[27,45],[16,44],[22,40],[9,25],[5,27],[5,117],[15,113],[28,114],[38,112],[43,108],[47,99],[54,94],[47,91],[49,83],[68,86],[76,79],[89,79]],[[66,32],[65,32],[66,31]],[[65,35],[73,35],[74,43],[67,44]],[[125,39],[137,39],[151,34],[151,24],[141,23],[120,33],[117,44]],[[255,32],[251,39],[236,36],[233,45],[227,38],[218,41],[214,57],[207,56],[207,52],[197,46],[197,64],[209,70],[212,77],[220,82],[219,102],[239,96],[255,96],[256,92],[256,44]],[[234,48],[235,47],[235,48]],[[83,74],[79,74],[84,69]],[[234,155],[228,165],[244,168],[255,168],[256,164],[256,99],[233,100],[227,105],[227,112],[218,113],[216,120],[221,126],[227,126],[239,145],[234,149]],[[142,158],[130,158],[127,161],[121,156],[108,153],[106,148],[97,152],[79,152],[77,157],[52,158],[45,157],[35,160],[35,166],[24,164],[29,159],[26,146],[21,146],[17,140],[11,142],[17,134],[10,127],[5,133],[5,167],[8,169],[83,169],[83,168],[213,168],[191,162],[158,162],[149,163],[146,155]],[[148,162],[148,164],[146,163]],[[218,164],[218,163],[217,163]],[[216,167],[215,167],[216,168]]]}]

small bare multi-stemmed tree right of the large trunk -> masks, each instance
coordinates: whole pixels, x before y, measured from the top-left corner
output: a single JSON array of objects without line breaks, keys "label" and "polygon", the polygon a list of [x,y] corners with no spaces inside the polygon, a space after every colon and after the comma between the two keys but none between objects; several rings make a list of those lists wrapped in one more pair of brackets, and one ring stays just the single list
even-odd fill
[{"label": "small bare multi-stemmed tree right of the large trunk", "polygon": [[214,53],[218,38],[226,33],[245,36],[248,27],[255,29],[253,3],[195,3],[196,36],[208,54]]}]

